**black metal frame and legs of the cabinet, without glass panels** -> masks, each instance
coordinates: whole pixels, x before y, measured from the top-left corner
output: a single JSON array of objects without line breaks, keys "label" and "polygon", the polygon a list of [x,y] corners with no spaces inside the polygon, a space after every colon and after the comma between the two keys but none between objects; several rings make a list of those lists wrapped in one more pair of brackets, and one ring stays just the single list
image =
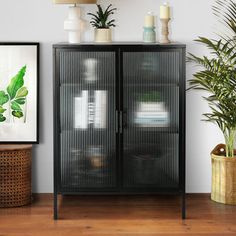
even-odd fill
[{"label": "black metal frame and legs of the cabinet, without glass panels", "polygon": [[[185,45],[183,44],[142,44],[142,43],[116,43],[116,44],[56,44],[53,46],[53,87],[54,87],[54,219],[58,219],[58,194],[63,195],[113,195],[113,194],[180,194],[182,197],[182,218],[186,218],[185,208],[185,110],[186,110],[186,74],[185,74]],[[60,181],[60,52],[115,52],[116,61],[116,188],[78,188],[71,192],[62,188]],[[124,52],[179,52],[179,187],[178,188],[123,188],[123,53]]]}]

